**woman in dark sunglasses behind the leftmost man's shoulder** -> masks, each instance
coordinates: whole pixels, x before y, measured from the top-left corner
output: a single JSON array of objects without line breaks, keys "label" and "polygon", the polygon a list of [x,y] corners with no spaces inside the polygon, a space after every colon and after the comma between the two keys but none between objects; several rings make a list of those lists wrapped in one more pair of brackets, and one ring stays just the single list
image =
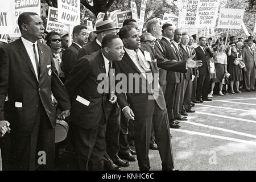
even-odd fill
[{"label": "woman in dark sunglasses behind the leftmost man's shoulder", "polygon": [[57,32],[49,32],[46,36],[47,45],[52,49],[52,57],[55,63],[57,73],[60,78],[63,78],[63,71],[61,70],[61,41],[60,34]]}]

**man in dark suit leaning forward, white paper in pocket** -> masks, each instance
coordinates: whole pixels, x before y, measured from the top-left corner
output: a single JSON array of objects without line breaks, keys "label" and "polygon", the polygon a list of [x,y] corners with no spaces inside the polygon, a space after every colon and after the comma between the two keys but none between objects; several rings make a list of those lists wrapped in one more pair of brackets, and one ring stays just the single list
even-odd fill
[{"label": "man in dark suit leaning forward, white paper in pocket", "polygon": [[80,170],[104,168],[106,121],[117,100],[108,83],[114,80],[112,61],[121,61],[123,53],[118,36],[107,35],[101,51],[77,60],[65,82],[72,98],[71,120]]}]

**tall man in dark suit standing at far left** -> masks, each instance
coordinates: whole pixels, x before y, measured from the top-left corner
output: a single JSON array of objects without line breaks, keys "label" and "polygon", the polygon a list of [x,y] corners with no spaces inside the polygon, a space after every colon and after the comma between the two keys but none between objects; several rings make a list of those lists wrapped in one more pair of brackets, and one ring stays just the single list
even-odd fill
[{"label": "tall man in dark suit standing at far left", "polygon": [[[40,155],[44,160],[39,167],[51,170],[57,118],[51,93],[64,110],[61,119],[68,117],[71,105],[51,50],[37,41],[44,33],[42,19],[35,13],[22,13],[18,24],[22,37],[0,48],[0,121],[6,119],[12,127],[14,153],[10,156],[15,157],[15,169],[35,170]],[[4,113],[7,93],[9,104]]]}]

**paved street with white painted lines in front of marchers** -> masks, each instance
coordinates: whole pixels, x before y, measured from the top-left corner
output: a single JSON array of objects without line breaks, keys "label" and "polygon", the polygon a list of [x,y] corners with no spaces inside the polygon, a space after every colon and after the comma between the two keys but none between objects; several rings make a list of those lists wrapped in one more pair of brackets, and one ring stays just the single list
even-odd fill
[{"label": "paved street with white painted lines in front of marchers", "polygon": [[[197,104],[180,129],[171,129],[179,170],[256,170],[256,92],[213,96]],[[158,151],[150,150],[151,170],[161,170]],[[138,170],[133,162],[123,170]]]}]

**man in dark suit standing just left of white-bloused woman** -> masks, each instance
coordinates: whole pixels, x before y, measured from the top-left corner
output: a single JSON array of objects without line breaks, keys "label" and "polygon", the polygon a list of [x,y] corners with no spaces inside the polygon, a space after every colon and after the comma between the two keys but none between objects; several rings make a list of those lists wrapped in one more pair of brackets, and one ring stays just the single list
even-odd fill
[{"label": "man in dark suit standing just left of white-bloused woman", "polygon": [[[210,57],[213,57],[213,53],[210,51],[209,45],[206,46],[206,38],[199,38],[199,47],[196,50],[196,59],[203,61],[202,67],[199,68],[199,78],[197,79],[196,100],[212,101],[208,98],[209,86],[210,86]],[[202,96],[202,99],[201,99]]]}]

